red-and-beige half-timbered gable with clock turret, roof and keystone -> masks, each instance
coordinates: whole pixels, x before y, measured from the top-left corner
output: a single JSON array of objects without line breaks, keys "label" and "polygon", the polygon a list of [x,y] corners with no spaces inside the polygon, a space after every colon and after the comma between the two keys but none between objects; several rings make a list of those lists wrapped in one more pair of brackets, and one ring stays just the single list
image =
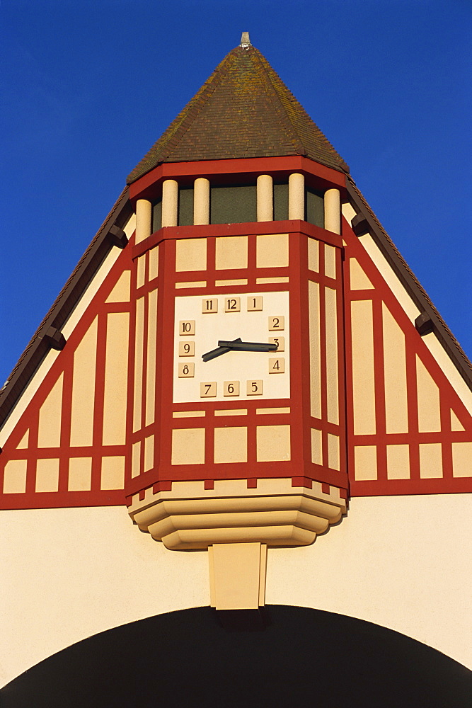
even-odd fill
[{"label": "red-and-beige half-timbered gable with clock turret, roof and keystone", "polygon": [[208,555],[209,605],[258,610],[274,549],[289,564],[323,535],[316,566],[349,537],[350,500],[471,491],[471,382],[349,167],[243,32],[1,390],[1,508],[122,508],[149,556],[152,539]]}]

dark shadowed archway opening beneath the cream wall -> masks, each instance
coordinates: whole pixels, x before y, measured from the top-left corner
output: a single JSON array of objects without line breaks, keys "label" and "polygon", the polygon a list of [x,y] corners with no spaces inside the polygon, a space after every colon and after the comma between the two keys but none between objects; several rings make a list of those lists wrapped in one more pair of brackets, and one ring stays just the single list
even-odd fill
[{"label": "dark shadowed archway opening beneath the cream wall", "polygon": [[472,672],[398,632],[269,605],[258,631],[209,607],[110,629],[0,691],[1,708],[470,708]]}]

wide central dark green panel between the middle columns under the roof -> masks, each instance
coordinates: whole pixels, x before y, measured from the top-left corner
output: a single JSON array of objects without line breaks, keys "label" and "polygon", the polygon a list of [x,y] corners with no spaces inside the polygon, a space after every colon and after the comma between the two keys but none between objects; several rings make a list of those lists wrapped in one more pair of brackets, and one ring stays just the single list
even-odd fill
[{"label": "wide central dark green panel between the middle columns under the roof", "polygon": [[257,219],[255,185],[211,188],[210,224],[242,224]]}]

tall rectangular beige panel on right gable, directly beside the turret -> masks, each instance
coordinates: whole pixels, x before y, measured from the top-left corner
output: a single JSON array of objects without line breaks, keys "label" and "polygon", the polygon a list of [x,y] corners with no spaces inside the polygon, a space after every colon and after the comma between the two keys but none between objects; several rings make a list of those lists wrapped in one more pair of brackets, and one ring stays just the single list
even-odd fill
[{"label": "tall rectangular beige panel on right gable, directly beside the turret", "polygon": [[372,301],[351,302],[352,388],[354,392],[354,433],[376,432],[374,387],[374,327]]}]

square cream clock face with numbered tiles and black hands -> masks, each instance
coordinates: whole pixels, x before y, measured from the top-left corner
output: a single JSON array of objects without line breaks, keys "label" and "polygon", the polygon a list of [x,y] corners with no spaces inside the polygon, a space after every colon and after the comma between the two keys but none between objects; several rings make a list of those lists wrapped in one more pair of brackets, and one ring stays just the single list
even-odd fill
[{"label": "square cream clock face with numbered tiles and black hands", "polygon": [[[220,353],[219,341],[237,340],[255,350]],[[174,403],[289,398],[289,370],[288,292],[175,297]]]}]

